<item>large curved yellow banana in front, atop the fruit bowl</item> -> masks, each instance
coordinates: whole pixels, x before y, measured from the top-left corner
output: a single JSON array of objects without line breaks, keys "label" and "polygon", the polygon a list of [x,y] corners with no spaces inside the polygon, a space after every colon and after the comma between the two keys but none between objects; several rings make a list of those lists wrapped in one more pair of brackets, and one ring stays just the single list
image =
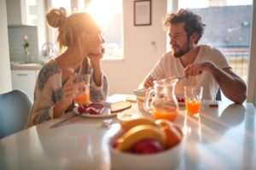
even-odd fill
[{"label": "large curved yellow banana in front, atop the fruit bowl", "polygon": [[165,148],[166,133],[160,130],[160,127],[153,125],[138,125],[132,127],[123,136],[117,140],[117,150],[127,151],[131,149],[131,146],[143,139],[154,139],[162,144]]}]

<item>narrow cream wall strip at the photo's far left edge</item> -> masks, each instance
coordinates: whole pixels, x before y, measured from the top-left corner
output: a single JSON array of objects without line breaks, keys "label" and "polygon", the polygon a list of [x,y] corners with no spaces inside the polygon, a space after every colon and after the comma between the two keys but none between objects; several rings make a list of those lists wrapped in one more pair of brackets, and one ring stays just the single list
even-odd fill
[{"label": "narrow cream wall strip at the photo's far left edge", "polygon": [[0,37],[0,94],[3,94],[12,89],[5,0],[0,0]]}]

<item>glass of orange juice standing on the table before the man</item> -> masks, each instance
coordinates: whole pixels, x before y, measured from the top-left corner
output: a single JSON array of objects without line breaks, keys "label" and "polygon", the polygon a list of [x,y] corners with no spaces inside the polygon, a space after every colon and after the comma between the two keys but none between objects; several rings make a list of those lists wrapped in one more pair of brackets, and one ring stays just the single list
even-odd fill
[{"label": "glass of orange juice standing on the table before the man", "polygon": [[187,113],[198,116],[201,111],[203,87],[201,86],[185,86],[185,106]]}]

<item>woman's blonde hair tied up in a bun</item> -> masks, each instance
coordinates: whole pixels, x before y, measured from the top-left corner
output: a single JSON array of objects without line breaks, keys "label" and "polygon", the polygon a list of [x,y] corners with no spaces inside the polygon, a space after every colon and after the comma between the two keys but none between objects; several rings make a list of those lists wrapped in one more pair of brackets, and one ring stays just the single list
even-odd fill
[{"label": "woman's blonde hair tied up in a bun", "polygon": [[82,31],[90,32],[96,27],[96,22],[88,13],[73,13],[67,16],[65,8],[53,8],[47,13],[46,20],[49,26],[59,28],[57,41],[60,48],[71,47],[79,43]]}]

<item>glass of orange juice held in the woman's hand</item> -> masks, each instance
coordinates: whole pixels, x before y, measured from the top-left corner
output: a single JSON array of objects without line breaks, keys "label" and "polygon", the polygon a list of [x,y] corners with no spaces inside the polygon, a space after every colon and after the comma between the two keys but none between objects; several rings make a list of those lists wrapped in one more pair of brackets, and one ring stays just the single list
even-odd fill
[{"label": "glass of orange juice held in the woman's hand", "polygon": [[75,78],[77,88],[75,89],[74,104],[89,105],[90,104],[90,75],[78,75]]}]

